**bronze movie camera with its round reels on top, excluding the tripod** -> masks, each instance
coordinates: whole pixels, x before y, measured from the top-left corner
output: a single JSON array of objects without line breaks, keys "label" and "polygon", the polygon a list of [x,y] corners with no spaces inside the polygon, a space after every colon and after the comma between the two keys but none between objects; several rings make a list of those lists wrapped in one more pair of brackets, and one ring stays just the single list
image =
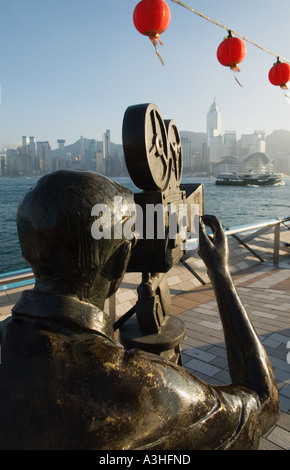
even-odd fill
[{"label": "bronze movie camera with its round reels on top, excluding the tripod", "polygon": [[154,104],[131,106],[123,121],[123,147],[134,194],[138,241],[129,272],[168,272],[198,234],[203,185],[182,184],[182,148],[176,124],[163,121]]}]

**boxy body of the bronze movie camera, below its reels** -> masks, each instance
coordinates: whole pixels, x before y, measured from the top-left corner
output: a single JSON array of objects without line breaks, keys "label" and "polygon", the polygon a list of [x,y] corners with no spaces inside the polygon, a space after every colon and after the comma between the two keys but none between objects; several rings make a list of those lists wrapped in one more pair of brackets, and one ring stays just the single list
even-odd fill
[{"label": "boxy body of the bronze movie camera, below its reels", "polygon": [[204,212],[203,185],[144,191],[135,193],[134,200],[141,236],[139,233],[127,271],[166,273],[185,254],[187,238],[198,236],[197,220]]}]

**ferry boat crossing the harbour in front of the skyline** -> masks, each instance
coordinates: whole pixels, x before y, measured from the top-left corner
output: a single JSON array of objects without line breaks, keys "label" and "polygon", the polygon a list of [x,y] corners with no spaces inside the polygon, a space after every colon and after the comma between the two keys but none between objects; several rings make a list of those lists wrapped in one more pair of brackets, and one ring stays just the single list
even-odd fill
[{"label": "ferry boat crossing the harbour in front of the skyline", "polygon": [[283,183],[283,173],[219,173],[217,185],[224,186],[269,186]]}]

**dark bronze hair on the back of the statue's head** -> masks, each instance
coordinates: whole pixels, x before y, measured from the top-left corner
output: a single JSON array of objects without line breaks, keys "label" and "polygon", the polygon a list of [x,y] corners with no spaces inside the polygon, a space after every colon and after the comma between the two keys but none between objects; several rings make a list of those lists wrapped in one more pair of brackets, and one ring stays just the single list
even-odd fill
[{"label": "dark bronze hair on the back of the statue's head", "polygon": [[115,196],[133,201],[131,191],[93,172],[60,170],[40,178],[17,212],[22,254],[36,279],[68,283],[72,290],[74,283],[90,282],[90,273],[122,243],[91,234],[93,206],[112,207]]}]

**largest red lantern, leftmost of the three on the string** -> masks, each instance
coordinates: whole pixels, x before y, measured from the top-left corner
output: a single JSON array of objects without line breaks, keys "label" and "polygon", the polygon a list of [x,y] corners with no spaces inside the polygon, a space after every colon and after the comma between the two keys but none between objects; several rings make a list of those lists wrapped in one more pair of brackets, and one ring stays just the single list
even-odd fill
[{"label": "largest red lantern, leftmost of the three on the string", "polygon": [[149,36],[156,47],[157,41],[160,44],[159,35],[168,28],[171,20],[169,6],[164,0],[142,0],[136,5],[133,21],[139,33]]}]

